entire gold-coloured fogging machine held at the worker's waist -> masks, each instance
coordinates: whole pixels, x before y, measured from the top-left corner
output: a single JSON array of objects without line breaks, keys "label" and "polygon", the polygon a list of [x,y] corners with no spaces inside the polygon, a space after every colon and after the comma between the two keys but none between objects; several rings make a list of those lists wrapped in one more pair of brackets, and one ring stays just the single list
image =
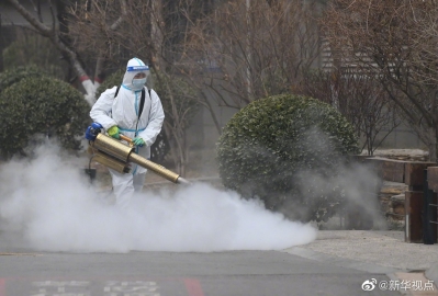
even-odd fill
[{"label": "entire gold-coloured fogging machine held at the worker's waist", "polygon": [[131,173],[130,162],[132,162],[148,169],[173,183],[190,184],[188,180],[181,178],[179,174],[137,155],[131,138],[120,135],[121,140],[126,141],[126,145],[123,141],[116,140],[103,134],[102,128],[102,125],[99,123],[92,123],[87,128],[86,138],[90,144],[90,163],[92,160],[94,160],[120,173]]}]

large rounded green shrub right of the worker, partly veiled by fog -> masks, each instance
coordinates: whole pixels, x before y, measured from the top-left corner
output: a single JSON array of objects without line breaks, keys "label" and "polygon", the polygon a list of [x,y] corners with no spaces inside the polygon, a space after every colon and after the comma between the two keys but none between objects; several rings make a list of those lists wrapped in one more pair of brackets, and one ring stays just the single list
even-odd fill
[{"label": "large rounded green shrub right of the worker, partly veiled by fog", "polygon": [[[351,125],[312,98],[281,94],[258,100],[227,123],[217,143],[223,184],[291,219],[327,220],[342,189],[327,178],[357,153]],[[328,184],[328,185],[327,185]]]}]

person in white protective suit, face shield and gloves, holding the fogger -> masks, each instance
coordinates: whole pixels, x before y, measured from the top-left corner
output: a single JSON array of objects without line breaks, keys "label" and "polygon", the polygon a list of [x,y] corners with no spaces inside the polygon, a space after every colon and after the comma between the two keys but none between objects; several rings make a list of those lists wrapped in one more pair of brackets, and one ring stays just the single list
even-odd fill
[{"label": "person in white protective suit, face shield and gloves, holding the fogger", "polygon": [[[117,87],[105,90],[90,111],[91,118],[100,123],[109,136],[120,139],[123,134],[132,138],[135,152],[147,159],[165,119],[158,94],[154,90],[149,92],[145,86],[148,76],[148,66],[138,58],[130,59],[119,92]],[[138,117],[143,89],[144,109]],[[147,170],[135,163],[131,163],[131,173],[109,170],[116,204],[126,206],[133,193],[142,191]]]}]

